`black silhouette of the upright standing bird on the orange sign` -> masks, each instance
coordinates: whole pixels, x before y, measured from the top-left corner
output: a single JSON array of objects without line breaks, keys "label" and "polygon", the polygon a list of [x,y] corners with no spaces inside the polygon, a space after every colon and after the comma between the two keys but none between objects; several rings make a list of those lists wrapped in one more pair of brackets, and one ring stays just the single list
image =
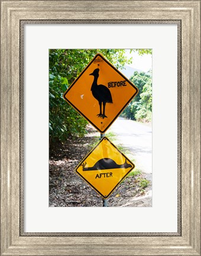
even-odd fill
[{"label": "black silhouette of the upright standing bird on the orange sign", "polygon": [[[105,104],[106,103],[112,103],[112,95],[109,89],[105,85],[98,85],[98,77],[99,77],[99,69],[95,69],[93,73],[90,73],[89,75],[93,75],[93,83],[90,90],[92,91],[93,97],[98,100],[99,106],[100,106],[100,113],[97,115],[98,117],[102,117],[104,119],[105,117]],[[103,113],[102,113],[102,104],[103,104]]]}]

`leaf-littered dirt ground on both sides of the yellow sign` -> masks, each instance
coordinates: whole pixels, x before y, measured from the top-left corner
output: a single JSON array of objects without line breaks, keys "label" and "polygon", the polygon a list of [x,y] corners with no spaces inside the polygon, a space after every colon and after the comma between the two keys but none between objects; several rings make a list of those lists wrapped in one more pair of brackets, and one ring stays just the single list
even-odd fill
[{"label": "leaf-littered dirt ground on both sides of the yellow sign", "polygon": [[[90,125],[87,135],[68,139],[50,150],[49,206],[97,207],[103,206],[102,197],[76,174],[75,168],[99,142],[99,133]],[[141,187],[144,174],[127,176],[108,199],[109,207],[150,207],[151,184]]]}]

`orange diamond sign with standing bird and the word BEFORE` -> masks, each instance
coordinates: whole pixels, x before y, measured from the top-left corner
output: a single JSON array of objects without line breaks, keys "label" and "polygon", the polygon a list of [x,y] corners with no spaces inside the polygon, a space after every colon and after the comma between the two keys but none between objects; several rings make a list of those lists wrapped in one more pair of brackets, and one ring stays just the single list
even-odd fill
[{"label": "orange diamond sign with standing bird and the word BEFORE", "polygon": [[137,93],[138,88],[98,53],[64,93],[64,99],[105,133]]}]

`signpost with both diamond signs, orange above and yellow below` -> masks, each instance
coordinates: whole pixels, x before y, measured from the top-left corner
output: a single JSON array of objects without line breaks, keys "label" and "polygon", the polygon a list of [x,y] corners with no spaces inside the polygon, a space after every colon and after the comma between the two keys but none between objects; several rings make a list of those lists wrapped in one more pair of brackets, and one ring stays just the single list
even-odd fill
[{"label": "signpost with both diamond signs, orange above and yellow below", "polygon": [[135,167],[105,132],[137,93],[138,88],[98,53],[63,96],[101,133],[101,141],[80,162],[76,173],[103,197],[104,207]]}]

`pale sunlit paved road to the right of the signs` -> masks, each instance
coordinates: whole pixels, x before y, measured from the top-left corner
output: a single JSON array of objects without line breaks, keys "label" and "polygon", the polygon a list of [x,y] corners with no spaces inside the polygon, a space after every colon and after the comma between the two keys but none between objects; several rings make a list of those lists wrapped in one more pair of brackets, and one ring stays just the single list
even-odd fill
[{"label": "pale sunlit paved road to the right of the signs", "polygon": [[114,132],[119,143],[132,153],[136,168],[152,179],[152,127],[119,117],[108,129]]}]

